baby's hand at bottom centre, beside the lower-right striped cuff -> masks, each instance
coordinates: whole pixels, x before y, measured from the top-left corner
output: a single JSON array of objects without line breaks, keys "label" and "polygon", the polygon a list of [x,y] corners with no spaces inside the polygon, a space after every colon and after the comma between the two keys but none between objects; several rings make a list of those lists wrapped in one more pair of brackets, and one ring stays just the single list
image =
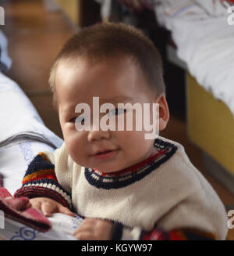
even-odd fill
[{"label": "baby's hand at bottom centre, beside the lower-right striped cuff", "polygon": [[111,240],[113,223],[104,219],[86,218],[73,236],[78,240]]}]

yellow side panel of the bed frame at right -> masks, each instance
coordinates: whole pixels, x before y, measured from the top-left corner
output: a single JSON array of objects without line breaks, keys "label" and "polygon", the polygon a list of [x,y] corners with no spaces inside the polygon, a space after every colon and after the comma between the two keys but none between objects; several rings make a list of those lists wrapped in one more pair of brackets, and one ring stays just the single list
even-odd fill
[{"label": "yellow side panel of the bed frame at right", "polygon": [[189,138],[204,151],[207,172],[234,194],[234,115],[186,73]]}]

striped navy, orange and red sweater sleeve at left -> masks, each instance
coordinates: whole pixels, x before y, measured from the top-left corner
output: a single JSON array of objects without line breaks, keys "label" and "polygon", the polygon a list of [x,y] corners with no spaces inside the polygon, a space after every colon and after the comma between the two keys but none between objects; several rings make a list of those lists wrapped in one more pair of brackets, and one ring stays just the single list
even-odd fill
[{"label": "striped navy, orange and red sweater sleeve at left", "polygon": [[14,197],[49,197],[65,207],[72,208],[71,195],[58,184],[55,165],[44,153],[38,153],[27,168],[22,187]]}]

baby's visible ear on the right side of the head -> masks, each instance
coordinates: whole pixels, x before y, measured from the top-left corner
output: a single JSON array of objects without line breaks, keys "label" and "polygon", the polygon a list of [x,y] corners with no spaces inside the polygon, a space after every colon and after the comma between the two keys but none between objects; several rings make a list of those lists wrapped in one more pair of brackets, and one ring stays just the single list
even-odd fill
[{"label": "baby's visible ear on the right side of the head", "polygon": [[159,104],[159,131],[162,131],[166,128],[170,116],[165,93],[157,97],[154,102]]}]

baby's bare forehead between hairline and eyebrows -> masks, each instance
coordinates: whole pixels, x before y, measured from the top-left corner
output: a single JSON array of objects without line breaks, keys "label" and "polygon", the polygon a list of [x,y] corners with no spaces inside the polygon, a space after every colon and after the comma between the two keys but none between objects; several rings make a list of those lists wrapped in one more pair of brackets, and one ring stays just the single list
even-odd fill
[{"label": "baby's bare forehead between hairline and eyebrows", "polygon": [[[69,107],[99,97],[100,102],[126,102],[148,90],[144,75],[132,58],[122,57],[92,63],[89,59],[64,61],[55,76],[58,106]],[[110,101],[110,99],[112,99]]]}]

